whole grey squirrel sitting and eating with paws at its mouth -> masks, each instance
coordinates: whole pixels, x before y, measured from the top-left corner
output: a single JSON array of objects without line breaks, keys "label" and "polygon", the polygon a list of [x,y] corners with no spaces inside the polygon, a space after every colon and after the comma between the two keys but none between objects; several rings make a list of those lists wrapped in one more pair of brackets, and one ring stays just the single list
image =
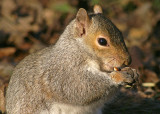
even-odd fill
[{"label": "whole grey squirrel sitting and eating with paws at its mouth", "polygon": [[[120,85],[138,79],[121,32],[80,8],[59,40],[24,58],[6,93],[7,114],[101,114]],[[121,70],[117,70],[121,68]],[[114,70],[116,69],[116,70]]]}]

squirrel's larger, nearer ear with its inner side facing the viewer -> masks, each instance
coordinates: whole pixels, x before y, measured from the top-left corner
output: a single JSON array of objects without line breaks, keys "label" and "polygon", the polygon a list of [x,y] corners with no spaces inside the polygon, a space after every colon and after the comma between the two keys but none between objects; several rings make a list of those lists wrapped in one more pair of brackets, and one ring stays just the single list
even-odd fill
[{"label": "squirrel's larger, nearer ear with its inner side facing the viewer", "polygon": [[87,11],[80,8],[76,16],[76,29],[78,36],[82,37],[86,34],[87,28],[89,26],[89,16]]}]

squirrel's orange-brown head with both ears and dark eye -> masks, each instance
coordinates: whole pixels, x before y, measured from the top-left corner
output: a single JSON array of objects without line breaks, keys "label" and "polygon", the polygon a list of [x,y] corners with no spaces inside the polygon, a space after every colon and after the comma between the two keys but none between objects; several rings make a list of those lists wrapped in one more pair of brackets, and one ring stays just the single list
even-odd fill
[{"label": "squirrel's orange-brown head with both ears and dark eye", "polygon": [[122,33],[102,14],[100,6],[96,5],[94,13],[89,15],[85,9],[79,9],[75,23],[76,36],[90,47],[100,61],[102,70],[113,71],[113,67],[124,67],[131,63]]}]

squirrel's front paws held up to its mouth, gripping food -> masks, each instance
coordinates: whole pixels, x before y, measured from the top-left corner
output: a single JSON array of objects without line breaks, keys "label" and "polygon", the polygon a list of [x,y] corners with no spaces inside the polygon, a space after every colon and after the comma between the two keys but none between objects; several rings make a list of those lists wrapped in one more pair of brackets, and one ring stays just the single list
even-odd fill
[{"label": "squirrel's front paws held up to its mouth, gripping food", "polygon": [[135,69],[125,67],[122,70],[113,71],[110,74],[112,80],[119,85],[133,85],[138,81],[138,73]]}]

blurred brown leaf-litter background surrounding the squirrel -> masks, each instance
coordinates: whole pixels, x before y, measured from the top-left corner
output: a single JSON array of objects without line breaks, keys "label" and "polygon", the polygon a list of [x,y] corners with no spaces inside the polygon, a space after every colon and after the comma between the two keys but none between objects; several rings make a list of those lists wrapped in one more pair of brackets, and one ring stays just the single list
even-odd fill
[{"label": "blurred brown leaf-litter background surrounding the squirrel", "polygon": [[160,113],[160,0],[0,0],[0,113],[14,67],[54,44],[79,8],[92,12],[95,4],[122,31],[140,73],[138,87],[122,88],[104,113]]}]

